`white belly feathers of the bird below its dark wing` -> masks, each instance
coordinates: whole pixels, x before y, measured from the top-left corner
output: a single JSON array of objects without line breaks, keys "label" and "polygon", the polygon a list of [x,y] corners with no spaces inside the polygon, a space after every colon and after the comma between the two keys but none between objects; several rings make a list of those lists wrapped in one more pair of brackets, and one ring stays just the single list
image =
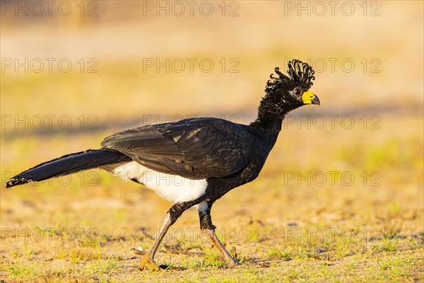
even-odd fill
[{"label": "white belly feathers of the bird below its dark wing", "polygon": [[196,200],[204,195],[208,186],[206,179],[191,180],[179,175],[159,173],[136,163],[136,161],[125,163],[108,171],[126,181],[135,178],[139,183],[154,190],[158,196],[174,203]]}]

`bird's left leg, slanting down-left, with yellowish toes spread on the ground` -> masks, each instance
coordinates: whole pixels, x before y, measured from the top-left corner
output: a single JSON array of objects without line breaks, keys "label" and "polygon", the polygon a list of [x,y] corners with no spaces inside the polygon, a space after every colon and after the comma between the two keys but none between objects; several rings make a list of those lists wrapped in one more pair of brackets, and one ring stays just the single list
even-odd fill
[{"label": "bird's left leg, slanting down-left, with yellowish toes spread on the ground", "polygon": [[189,207],[192,207],[192,202],[182,202],[174,204],[170,210],[168,210],[165,220],[163,221],[162,227],[160,228],[159,235],[155,238],[155,242],[150,250],[141,251],[136,248],[131,248],[131,250],[136,255],[141,255],[140,269],[143,270],[146,265],[150,268],[151,271],[159,271],[160,268],[156,264],[154,258],[155,253],[159,248],[160,243],[165,237],[168,229],[172,224],[177,221],[178,217],[181,216],[182,212],[187,210]]}]

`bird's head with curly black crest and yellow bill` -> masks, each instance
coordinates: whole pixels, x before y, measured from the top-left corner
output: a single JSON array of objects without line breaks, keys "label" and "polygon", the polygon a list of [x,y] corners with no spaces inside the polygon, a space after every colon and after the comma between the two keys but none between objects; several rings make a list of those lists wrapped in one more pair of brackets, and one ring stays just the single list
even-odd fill
[{"label": "bird's head with curly black crest and yellow bill", "polygon": [[315,79],[314,70],[310,65],[294,59],[288,62],[288,76],[281,73],[278,67],[275,71],[278,77],[271,74],[265,91],[273,97],[273,102],[283,112],[306,104],[320,104],[319,98],[309,90],[313,84],[312,80]]}]

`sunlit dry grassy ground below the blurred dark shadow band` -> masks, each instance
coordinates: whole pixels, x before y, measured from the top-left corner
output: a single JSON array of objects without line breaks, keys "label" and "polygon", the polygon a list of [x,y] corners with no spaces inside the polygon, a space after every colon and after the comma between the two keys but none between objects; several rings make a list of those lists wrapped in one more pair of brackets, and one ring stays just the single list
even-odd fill
[{"label": "sunlit dry grassy ground below the blurred dark shadow band", "polygon": [[[408,125],[405,127],[405,125]],[[131,247],[148,248],[170,204],[150,190],[88,171],[1,193],[1,277],[37,281],[421,281],[423,137],[420,117],[382,117],[382,129],[285,129],[258,180],[213,208],[218,234],[241,265],[204,241],[194,209],[156,256],[165,272],[140,272]],[[335,132],[338,134],[335,135]],[[358,140],[367,136],[367,144]],[[4,143],[27,168],[104,134]],[[331,150],[324,137],[333,136]],[[383,140],[383,141],[382,141]],[[312,141],[312,146],[304,146]],[[300,152],[299,152],[300,151]],[[322,156],[325,154],[325,157]],[[341,169],[343,168],[343,169]],[[334,180],[331,180],[333,171]],[[308,175],[308,173],[310,175]],[[365,173],[365,175],[364,175]],[[348,176],[341,178],[342,175]],[[326,178],[322,178],[322,176]],[[355,180],[351,180],[351,176]],[[4,180],[2,180],[4,182]],[[82,186],[81,186],[82,185]],[[175,268],[174,268],[175,267]]]}]

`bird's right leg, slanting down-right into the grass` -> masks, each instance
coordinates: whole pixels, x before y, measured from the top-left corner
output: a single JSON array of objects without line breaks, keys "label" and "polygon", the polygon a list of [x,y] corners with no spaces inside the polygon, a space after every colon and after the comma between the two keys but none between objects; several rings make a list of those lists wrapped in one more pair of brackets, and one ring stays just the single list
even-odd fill
[{"label": "bird's right leg, slanting down-right into the grass", "polygon": [[234,258],[228,253],[228,250],[225,249],[223,243],[221,243],[216,236],[215,233],[215,226],[212,224],[212,218],[211,218],[211,207],[212,207],[213,201],[204,201],[197,205],[197,212],[199,212],[199,218],[200,218],[200,229],[203,231],[206,236],[208,236],[209,240],[213,243],[216,248],[218,248],[218,251],[223,256],[223,258],[227,261],[228,267],[232,268],[237,265],[237,262]]}]

